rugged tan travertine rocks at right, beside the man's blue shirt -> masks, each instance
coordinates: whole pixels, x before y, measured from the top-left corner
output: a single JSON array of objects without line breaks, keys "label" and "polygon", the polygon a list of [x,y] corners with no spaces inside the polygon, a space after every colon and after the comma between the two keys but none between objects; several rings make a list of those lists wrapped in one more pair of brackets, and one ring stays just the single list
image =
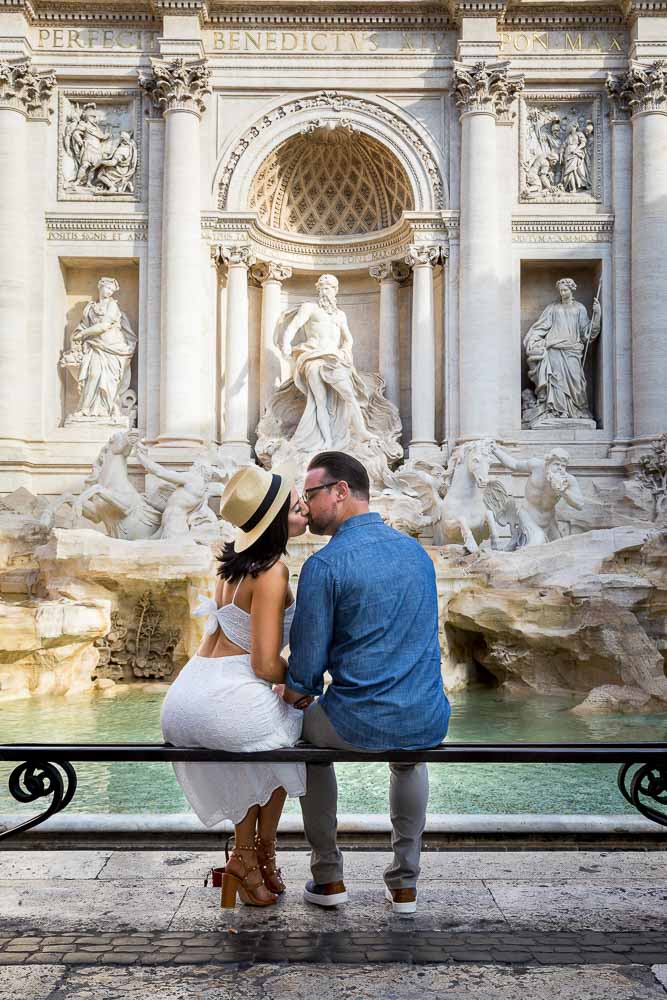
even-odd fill
[{"label": "rugged tan travertine rocks at right, beside the man's blue shirt", "polygon": [[667,532],[592,531],[476,559],[443,551],[436,564],[454,683],[467,660],[507,692],[576,695],[581,712],[667,711]]}]

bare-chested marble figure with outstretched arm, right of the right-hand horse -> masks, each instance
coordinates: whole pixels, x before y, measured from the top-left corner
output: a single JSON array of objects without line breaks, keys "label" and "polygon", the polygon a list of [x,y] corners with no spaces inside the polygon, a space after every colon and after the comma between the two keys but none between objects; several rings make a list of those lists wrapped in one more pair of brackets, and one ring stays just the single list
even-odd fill
[{"label": "bare-chested marble figure with outstretched arm, right of the right-hand horse", "polygon": [[505,468],[527,472],[525,498],[519,504],[524,545],[543,545],[560,538],[556,517],[559,500],[581,510],[585,498],[574,476],[567,471],[570,461],[564,448],[553,448],[544,458],[516,458],[495,442],[491,451]]}]

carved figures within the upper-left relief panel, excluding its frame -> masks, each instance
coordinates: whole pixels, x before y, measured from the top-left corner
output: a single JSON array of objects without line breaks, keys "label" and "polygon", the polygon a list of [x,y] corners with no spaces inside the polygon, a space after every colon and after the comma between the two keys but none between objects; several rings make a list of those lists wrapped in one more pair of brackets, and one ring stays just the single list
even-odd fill
[{"label": "carved figures within the upper-left relief panel, excluding its frame", "polygon": [[134,193],[137,143],[125,119],[128,106],[106,108],[104,121],[95,103],[70,102],[62,136],[65,191],[93,195]]}]

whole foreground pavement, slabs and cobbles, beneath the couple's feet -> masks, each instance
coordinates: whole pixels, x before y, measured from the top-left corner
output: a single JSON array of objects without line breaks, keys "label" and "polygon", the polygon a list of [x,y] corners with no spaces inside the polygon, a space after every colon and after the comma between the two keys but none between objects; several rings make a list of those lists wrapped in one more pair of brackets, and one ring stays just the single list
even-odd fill
[{"label": "whole foreground pavement, slabs and cobbles, beneath the couple's feet", "polygon": [[2,851],[0,1000],[667,1000],[667,852],[429,852],[408,918],[386,854],[346,855],[331,911],[280,861],[275,907],[221,911],[218,855]]}]

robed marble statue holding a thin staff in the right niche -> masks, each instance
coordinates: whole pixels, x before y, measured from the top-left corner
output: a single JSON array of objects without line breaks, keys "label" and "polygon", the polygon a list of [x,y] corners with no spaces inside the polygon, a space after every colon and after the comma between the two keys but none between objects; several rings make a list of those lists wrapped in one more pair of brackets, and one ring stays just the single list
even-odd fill
[{"label": "robed marble statue holding a thin staff in the right niche", "polygon": [[572,278],[561,278],[556,288],[560,301],[544,309],[523,340],[528,376],[535,387],[534,401],[522,395],[523,424],[562,427],[568,420],[595,427],[584,364],[591,342],[600,334],[600,303],[596,296],[589,318],[586,306],[574,298],[577,286]]}]

